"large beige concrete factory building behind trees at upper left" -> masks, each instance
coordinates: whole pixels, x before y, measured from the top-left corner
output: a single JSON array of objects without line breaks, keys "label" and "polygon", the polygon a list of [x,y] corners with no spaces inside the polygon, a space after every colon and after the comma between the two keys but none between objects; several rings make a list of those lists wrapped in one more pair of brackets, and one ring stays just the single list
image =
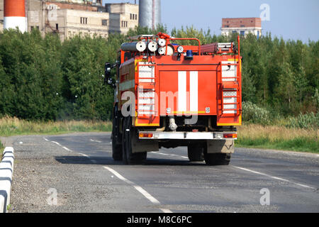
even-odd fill
[{"label": "large beige concrete factory building behind trees at upper left", "polygon": [[[101,0],[26,0],[26,5],[28,31],[59,33],[61,40],[74,35],[106,38],[109,33],[125,34],[138,26],[137,4],[101,6]],[[0,29],[3,9],[4,0],[0,0]]]}]

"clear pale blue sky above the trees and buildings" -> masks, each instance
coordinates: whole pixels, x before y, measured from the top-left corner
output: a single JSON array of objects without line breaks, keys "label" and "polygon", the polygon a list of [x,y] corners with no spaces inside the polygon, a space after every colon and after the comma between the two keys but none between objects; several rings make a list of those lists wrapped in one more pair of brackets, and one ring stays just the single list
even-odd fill
[{"label": "clear pale blue sky above the trees and buildings", "polygon": [[[105,3],[134,0],[103,0]],[[138,1],[137,1],[138,2]],[[220,35],[222,18],[262,17],[262,33],[285,40],[319,40],[319,0],[162,0],[162,24],[168,31],[181,26]],[[269,7],[269,13],[263,4]]]}]

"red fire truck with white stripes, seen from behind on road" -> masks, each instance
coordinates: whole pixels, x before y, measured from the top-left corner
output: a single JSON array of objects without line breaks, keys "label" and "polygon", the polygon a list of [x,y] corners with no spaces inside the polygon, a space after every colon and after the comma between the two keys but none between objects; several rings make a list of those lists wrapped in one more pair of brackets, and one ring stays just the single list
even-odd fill
[{"label": "red fire truck with white stripes, seen from behind on road", "polygon": [[[186,40],[192,45],[178,44]],[[242,120],[239,37],[237,45],[201,45],[196,38],[138,35],[105,71],[114,87],[114,160],[140,163],[147,152],[185,146],[191,162],[229,164]]]}]

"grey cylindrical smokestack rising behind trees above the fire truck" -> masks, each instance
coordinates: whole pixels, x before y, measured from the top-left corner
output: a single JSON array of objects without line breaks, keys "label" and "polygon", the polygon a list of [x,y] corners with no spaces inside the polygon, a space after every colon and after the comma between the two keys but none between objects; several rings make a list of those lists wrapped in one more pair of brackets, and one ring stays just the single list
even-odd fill
[{"label": "grey cylindrical smokestack rising behind trees above the fire truck", "polygon": [[161,0],[140,0],[138,8],[139,26],[155,29],[161,23]]}]

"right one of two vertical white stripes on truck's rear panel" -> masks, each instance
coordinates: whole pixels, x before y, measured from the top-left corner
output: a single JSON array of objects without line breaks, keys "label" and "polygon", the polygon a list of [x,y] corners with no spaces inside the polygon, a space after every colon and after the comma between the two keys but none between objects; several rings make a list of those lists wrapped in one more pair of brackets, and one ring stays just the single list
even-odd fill
[{"label": "right one of two vertical white stripes on truck's rear panel", "polygon": [[198,111],[198,72],[191,71],[189,77],[189,108],[191,112]]}]

